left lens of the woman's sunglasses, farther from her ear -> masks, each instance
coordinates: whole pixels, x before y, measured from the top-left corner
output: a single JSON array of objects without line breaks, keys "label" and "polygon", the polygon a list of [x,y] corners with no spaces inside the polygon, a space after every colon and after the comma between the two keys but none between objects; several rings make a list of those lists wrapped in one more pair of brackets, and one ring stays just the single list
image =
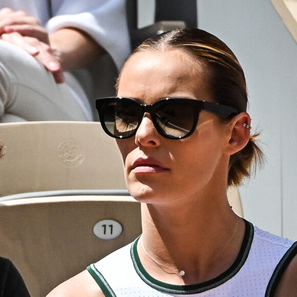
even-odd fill
[{"label": "left lens of the woman's sunglasses, farther from her ear", "polygon": [[137,129],[141,108],[132,100],[113,100],[103,106],[102,114],[108,131],[115,137],[129,137]]}]

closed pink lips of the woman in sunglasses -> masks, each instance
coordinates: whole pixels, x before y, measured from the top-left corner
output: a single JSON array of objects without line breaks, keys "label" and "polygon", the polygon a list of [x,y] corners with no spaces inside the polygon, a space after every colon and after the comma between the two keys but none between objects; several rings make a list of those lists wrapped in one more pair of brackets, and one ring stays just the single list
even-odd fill
[{"label": "closed pink lips of the woman in sunglasses", "polygon": [[154,158],[138,158],[132,164],[132,171],[134,173],[161,173],[168,171],[169,168]]}]

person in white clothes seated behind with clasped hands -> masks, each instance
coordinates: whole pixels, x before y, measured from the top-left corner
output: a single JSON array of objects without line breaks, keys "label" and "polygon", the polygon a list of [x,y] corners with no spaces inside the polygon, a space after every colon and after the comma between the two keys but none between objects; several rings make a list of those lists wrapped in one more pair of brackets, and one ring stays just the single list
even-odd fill
[{"label": "person in white clothes seated behind with clasped hands", "polygon": [[0,122],[93,120],[91,79],[83,83],[73,71],[104,53],[121,69],[130,54],[124,3],[2,0]]}]

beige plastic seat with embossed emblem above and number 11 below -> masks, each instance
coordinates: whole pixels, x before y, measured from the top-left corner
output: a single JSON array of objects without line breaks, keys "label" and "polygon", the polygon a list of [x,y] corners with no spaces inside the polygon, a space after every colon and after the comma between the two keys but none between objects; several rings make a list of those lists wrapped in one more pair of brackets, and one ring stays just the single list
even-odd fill
[{"label": "beige plastic seat with embossed emblem above and number 11 below", "polygon": [[[0,255],[15,263],[33,297],[140,234],[139,203],[102,196],[128,190],[115,140],[100,123],[2,123],[0,139]],[[97,238],[102,219],[119,222],[122,235]]]}]

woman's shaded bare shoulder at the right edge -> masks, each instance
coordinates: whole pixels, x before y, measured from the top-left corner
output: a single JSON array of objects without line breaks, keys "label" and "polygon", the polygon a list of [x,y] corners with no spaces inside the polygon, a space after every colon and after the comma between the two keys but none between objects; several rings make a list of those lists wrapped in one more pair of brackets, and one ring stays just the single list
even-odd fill
[{"label": "woman's shaded bare shoulder at the right edge", "polygon": [[297,256],[288,265],[274,294],[274,297],[283,296],[297,296]]}]

